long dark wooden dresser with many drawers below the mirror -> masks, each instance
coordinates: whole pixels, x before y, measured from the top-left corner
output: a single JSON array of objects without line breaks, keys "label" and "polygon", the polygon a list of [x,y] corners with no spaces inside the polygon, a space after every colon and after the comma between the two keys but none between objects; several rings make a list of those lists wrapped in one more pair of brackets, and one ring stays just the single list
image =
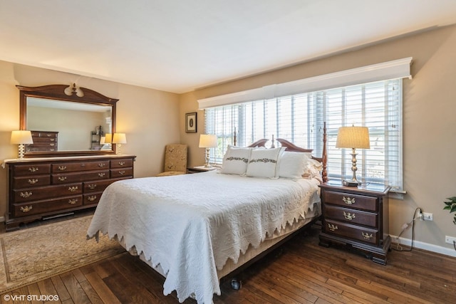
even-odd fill
[{"label": "long dark wooden dresser with many drawers below the mirror", "polygon": [[97,206],[109,184],[133,178],[134,155],[6,159],[6,231],[21,223]]}]

